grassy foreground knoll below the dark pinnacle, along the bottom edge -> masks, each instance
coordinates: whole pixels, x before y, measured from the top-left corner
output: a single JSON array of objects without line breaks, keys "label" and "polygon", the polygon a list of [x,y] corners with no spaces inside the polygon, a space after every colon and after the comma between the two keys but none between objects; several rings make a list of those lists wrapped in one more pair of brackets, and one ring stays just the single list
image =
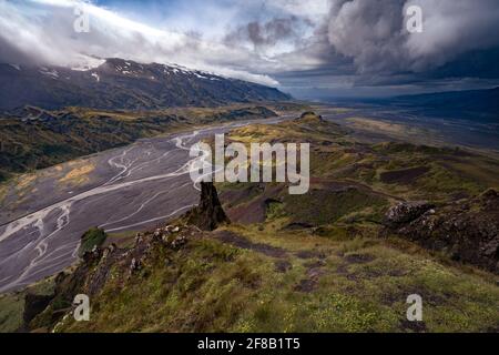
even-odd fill
[{"label": "grassy foreground knoll below the dark pinnacle, along the bottom edge", "polygon": [[179,252],[154,248],[124,287],[116,270],[93,298],[92,321],[69,318],[58,331],[413,332],[404,321],[411,293],[425,300],[424,331],[498,325],[499,288],[490,275],[444,265],[409,243],[395,247],[390,240],[318,237],[269,225],[225,230],[284,252],[273,257],[222,243],[222,232]]}]

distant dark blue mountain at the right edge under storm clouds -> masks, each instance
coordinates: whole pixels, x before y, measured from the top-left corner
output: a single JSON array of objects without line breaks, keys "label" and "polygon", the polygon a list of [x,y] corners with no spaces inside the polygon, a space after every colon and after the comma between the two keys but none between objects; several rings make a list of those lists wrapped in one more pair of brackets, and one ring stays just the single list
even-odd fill
[{"label": "distant dark blue mountain at the right edge under storm clouds", "polygon": [[426,114],[499,121],[499,88],[404,95],[390,103],[418,108]]}]

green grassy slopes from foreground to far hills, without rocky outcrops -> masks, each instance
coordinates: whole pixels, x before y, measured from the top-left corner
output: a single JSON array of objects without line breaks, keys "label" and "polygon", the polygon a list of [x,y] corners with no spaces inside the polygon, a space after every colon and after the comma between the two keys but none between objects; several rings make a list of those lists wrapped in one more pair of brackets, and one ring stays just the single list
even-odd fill
[{"label": "green grassy slopes from foreground to far hills, without rocky outcrops", "polygon": [[[124,276],[116,270],[115,277],[92,300],[91,322],[67,320],[58,329],[485,332],[499,328],[499,287],[495,275],[450,262],[444,255],[399,239],[379,239],[377,219],[383,211],[373,209],[373,204],[386,209],[397,199],[426,196],[448,201],[458,192],[473,194],[498,186],[496,161],[410,144],[360,145],[338,126],[314,120],[306,124],[253,125],[232,134],[233,140],[243,142],[256,138],[312,140],[315,194],[287,200],[285,194],[273,192],[274,197],[283,200],[267,209],[262,223],[234,223],[190,241],[179,252],[154,248],[139,275],[123,282]],[[456,174],[455,165],[445,164],[449,161],[458,164],[462,173]],[[428,172],[410,182],[404,174],[400,183],[384,183],[379,178],[385,171],[419,165],[428,166]],[[339,182],[349,182],[357,189],[347,192],[363,193],[365,199],[324,197],[324,192],[334,191],[334,184]],[[225,201],[228,211],[241,206],[247,210],[266,193],[246,191],[246,184],[221,184],[218,189],[222,200],[224,194],[232,196]],[[291,222],[303,221],[316,227],[298,231],[286,227]],[[232,233],[232,240],[221,242],[220,236],[227,232]],[[422,324],[405,321],[406,298],[414,293],[424,300]]]}]

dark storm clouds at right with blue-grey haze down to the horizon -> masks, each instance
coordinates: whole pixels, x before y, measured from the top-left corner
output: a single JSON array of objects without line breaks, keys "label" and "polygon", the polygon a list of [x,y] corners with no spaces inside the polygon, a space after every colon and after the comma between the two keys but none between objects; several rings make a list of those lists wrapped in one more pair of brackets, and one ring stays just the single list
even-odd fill
[{"label": "dark storm clouds at right with blue-grey haze down to the horizon", "polygon": [[[422,10],[422,33],[406,28],[406,9],[414,4]],[[303,97],[497,85],[498,33],[495,0],[332,0],[314,41],[301,49],[320,64],[275,78]]]}]

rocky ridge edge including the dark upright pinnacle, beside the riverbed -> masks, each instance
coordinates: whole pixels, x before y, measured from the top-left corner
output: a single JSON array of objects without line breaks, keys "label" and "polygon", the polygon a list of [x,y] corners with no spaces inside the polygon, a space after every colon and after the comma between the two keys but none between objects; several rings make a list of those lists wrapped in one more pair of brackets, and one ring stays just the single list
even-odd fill
[{"label": "rocky ridge edge including the dark upright pinnacle, beside the riverbed", "polygon": [[[71,273],[62,272],[55,277],[53,295],[27,296],[23,329],[53,329],[72,312],[77,294],[92,297],[101,293],[110,280],[125,284],[131,277],[144,277],[154,255],[162,251],[176,253],[190,240],[201,239],[202,230],[213,231],[222,223],[230,223],[230,220],[216,189],[213,183],[202,183],[200,205],[183,217],[170,225],[138,233],[131,248],[120,248],[115,244],[106,247],[93,245],[91,251],[82,253],[79,265]],[[165,264],[170,263],[171,260],[166,258]]]}]

